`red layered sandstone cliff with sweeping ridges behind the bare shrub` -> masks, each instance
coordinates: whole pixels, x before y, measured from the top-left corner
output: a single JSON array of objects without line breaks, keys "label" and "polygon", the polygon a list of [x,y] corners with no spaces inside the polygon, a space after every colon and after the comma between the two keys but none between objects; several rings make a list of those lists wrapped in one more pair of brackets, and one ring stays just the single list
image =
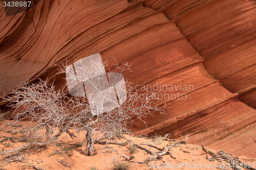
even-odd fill
[{"label": "red layered sandstone cliff with sweeping ridges behind the bare shrub", "polygon": [[132,64],[123,76],[133,85],[193,85],[165,90],[187,99],[160,100],[166,114],[146,117],[147,127],[136,120],[135,134],[188,134],[191,143],[256,157],[255,7],[253,0],[42,0],[7,17],[1,6],[0,95],[28,79],[61,86],[58,64],[100,53]]}]

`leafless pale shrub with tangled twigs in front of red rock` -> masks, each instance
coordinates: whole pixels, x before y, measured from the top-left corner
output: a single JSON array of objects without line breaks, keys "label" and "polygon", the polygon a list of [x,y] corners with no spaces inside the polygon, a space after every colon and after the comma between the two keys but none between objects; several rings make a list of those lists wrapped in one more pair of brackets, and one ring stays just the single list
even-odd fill
[{"label": "leafless pale shrub with tangled twigs in front of red rock", "polygon": [[[129,133],[127,123],[134,123],[135,117],[146,125],[143,117],[154,112],[164,113],[166,106],[161,108],[154,103],[158,92],[145,90],[145,97],[141,98],[137,91],[126,90],[127,82],[124,82],[121,73],[130,70],[127,62],[120,65],[116,62],[114,65],[118,72],[105,72],[99,54],[78,59],[71,65],[66,62],[59,68],[60,73],[66,74],[67,80],[66,86],[61,89],[55,89],[54,82],[39,79],[35,84],[24,83],[13,91],[13,95],[6,96],[9,106],[16,108],[13,114],[16,122],[29,119],[36,123],[35,127],[25,131],[23,140],[30,144],[25,144],[24,148],[37,145],[34,140],[42,133],[39,127],[44,129],[44,134],[41,134],[44,135],[43,143],[53,144],[63,133],[76,137],[75,133],[86,131],[87,147],[84,153],[92,156],[94,142],[126,145],[127,142],[118,143],[115,135]],[[71,133],[70,129],[75,133]],[[94,139],[98,137],[104,137],[105,141]],[[115,142],[111,141],[113,138]],[[168,139],[168,135],[164,139]],[[141,145],[134,146],[155,154]]]}]

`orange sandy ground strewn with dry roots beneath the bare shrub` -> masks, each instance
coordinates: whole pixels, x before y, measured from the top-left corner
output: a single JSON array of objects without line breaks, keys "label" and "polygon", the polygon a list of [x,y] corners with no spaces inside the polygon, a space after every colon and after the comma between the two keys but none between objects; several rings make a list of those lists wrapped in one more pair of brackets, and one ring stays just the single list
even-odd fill
[{"label": "orange sandy ground strewn with dry roots beneath the bare shrub", "polygon": [[[11,122],[10,122],[11,123]],[[26,122],[24,122],[26,124]],[[0,151],[13,150],[26,142],[17,142],[15,137],[22,137],[22,133],[18,132],[23,127],[12,127],[8,125],[6,120],[1,122],[0,126]],[[12,139],[5,140],[6,137],[13,137]],[[206,154],[202,151],[202,147],[194,144],[181,144],[179,147],[170,147],[172,142],[167,140],[157,140],[145,137],[135,137],[124,134],[126,138],[130,138],[133,143],[141,144],[154,144],[159,148],[169,145],[169,152],[176,159],[170,157],[170,155],[163,155],[161,160],[153,160],[148,164],[139,164],[137,162],[144,161],[151,155],[145,151],[137,149],[133,154],[135,157],[131,161],[127,162],[122,154],[130,155],[129,144],[125,146],[119,146],[116,144],[110,144],[106,148],[106,145],[95,144],[96,155],[85,156],[83,150],[86,148],[82,145],[85,134],[81,133],[77,138],[70,138],[69,136],[62,137],[57,146],[48,145],[46,148],[32,148],[27,151],[21,151],[18,154],[2,155],[1,156],[1,169],[114,169],[114,162],[123,162],[130,165],[130,169],[231,169],[225,161],[209,161],[206,159]],[[120,139],[118,142],[125,142],[125,139]],[[189,141],[189,140],[188,140]],[[143,145],[143,147],[157,152],[158,150],[153,147]],[[205,146],[207,148],[207,146]],[[38,151],[39,149],[39,151]],[[207,148],[208,149],[208,148]],[[212,152],[218,152],[208,149]],[[232,153],[231,153],[232,154]],[[210,155],[208,155],[210,157]],[[243,162],[253,163],[256,159],[249,159],[246,156],[239,158]],[[61,164],[66,164],[67,166]],[[221,165],[221,166],[220,166]],[[70,166],[70,167],[68,167]],[[183,167],[182,167],[183,166]],[[200,166],[200,167],[199,167]],[[256,167],[256,165],[254,166]]]}]

